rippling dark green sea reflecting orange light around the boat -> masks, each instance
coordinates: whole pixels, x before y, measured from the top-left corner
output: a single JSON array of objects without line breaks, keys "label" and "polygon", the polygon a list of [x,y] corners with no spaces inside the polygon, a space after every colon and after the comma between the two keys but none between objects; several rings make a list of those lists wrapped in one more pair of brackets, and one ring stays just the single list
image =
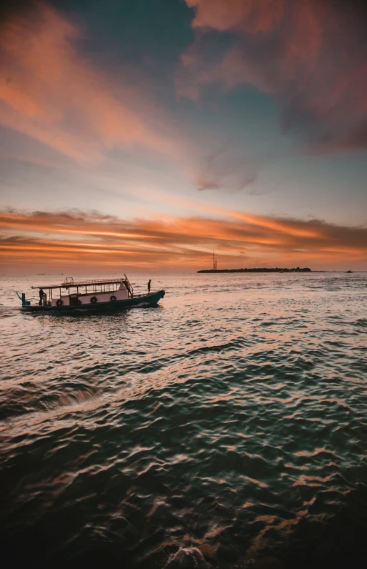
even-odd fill
[{"label": "rippling dark green sea reflecting orange light around the boat", "polygon": [[365,566],[367,273],[154,274],[158,307],[21,313],[40,278],[0,279],[3,555]]}]

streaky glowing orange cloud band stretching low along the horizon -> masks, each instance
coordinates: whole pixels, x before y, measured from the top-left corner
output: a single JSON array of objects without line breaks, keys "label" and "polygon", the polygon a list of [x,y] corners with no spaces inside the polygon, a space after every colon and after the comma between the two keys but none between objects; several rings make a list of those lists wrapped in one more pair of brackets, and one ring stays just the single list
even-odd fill
[{"label": "streaky glowing orange cloud band stretching low along the horizon", "polygon": [[[214,212],[214,211],[213,211]],[[218,212],[216,212],[218,213]],[[296,266],[366,269],[367,227],[317,219],[261,217],[221,211],[221,219],[126,220],[99,212],[0,212],[0,259],[8,269],[206,267],[216,249],[221,268]]]}]

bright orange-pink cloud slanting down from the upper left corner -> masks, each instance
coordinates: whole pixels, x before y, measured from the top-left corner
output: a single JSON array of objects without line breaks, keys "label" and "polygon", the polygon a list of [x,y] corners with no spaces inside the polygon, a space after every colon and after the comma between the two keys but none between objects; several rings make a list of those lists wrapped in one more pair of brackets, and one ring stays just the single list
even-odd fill
[{"label": "bright orange-pink cloud slanting down from the upper left corner", "polygon": [[115,147],[179,157],[161,109],[126,69],[111,78],[83,56],[81,35],[43,3],[10,12],[0,29],[0,124],[86,164]]}]

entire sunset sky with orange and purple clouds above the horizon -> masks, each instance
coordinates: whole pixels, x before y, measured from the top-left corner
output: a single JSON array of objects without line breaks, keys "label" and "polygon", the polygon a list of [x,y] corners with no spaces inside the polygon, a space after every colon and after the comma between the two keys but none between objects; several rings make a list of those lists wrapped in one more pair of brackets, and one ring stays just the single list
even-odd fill
[{"label": "entire sunset sky with orange and purple clouds above the horizon", "polygon": [[1,273],[367,270],[367,13],[0,9]]}]

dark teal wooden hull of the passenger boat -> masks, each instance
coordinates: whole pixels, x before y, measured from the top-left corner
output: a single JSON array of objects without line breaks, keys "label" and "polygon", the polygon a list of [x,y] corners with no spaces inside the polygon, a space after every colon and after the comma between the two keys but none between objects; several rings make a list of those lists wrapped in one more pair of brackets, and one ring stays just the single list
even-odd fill
[{"label": "dark teal wooden hull of the passenger boat", "polygon": [[164,297],[164,290],[151,292],[149,295],[139,295],[125,300],[116,300],[115,302],[96,302],[88,305],[64,305],[64,306],[39,306],[29,305],[22,306],[23,312],[75,312],[76,310],[116,310],[121,308],[133,308],[139,306],[154,306]]}]

